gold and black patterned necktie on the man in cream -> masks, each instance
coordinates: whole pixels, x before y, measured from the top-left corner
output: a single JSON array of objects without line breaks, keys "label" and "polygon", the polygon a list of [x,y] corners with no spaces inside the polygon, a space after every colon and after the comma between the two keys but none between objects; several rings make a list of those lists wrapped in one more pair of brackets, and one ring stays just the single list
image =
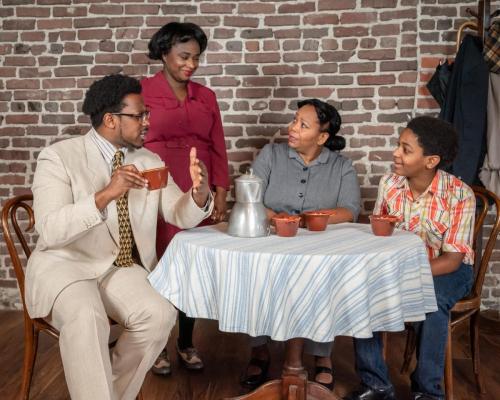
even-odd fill
[{"label": "gold and black patterned necktie on the man in cream", "polygon": [[[118,150],[113,157],[113,171],[123,164],[123,152]],[[118,227],[120,235],[120,252],[116,257],[117,267],[130,267],[134,263],[132,258],[132,247],[134,238],[130,227],[128,215],[128,192],[116,200],[116,210],[118,212]]]}]

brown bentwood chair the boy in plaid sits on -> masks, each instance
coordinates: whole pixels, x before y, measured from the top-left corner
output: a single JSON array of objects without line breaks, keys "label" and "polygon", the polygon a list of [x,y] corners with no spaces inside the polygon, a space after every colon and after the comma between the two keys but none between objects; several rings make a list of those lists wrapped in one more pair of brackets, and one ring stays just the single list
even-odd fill
[{"label": "brown bentwood chair the boy in plaid sits on", "polygon": [[[481,187],[473,187],[477,201],[476,223],[474,225],[474,247],[476,246],[478,235],[482,233],[482,228],[490,204],[493,204],[494,214],[491,221],[492,229],[486,242],[486,247],[481,254],[477,254],[478,260],[474,266],[474,284],[471,293],[459,300],[451,310],[450,321],[448,323],[448,342],[446,345],[444,385],[446,400],[453,400],[453,352],[451,334],[455,328],[462,323],[469,321],[470,333],[470,351],[472,358],[473,371],[476,378],[477,389],[480,393],[484,393],[484,385],[479,371],[479,312],[481,307],[481,292],[483,289],[484,277],[488,270],[491,253],[495,248],[495,244],[500,232],[500,199],[495,193],[490,192]],[[408,371],[412,355],[416,347],[415,331],[410,324],[407,325],[408,335],[406,337],[406,348],[404,352],[403,366],[401,372]]]}]

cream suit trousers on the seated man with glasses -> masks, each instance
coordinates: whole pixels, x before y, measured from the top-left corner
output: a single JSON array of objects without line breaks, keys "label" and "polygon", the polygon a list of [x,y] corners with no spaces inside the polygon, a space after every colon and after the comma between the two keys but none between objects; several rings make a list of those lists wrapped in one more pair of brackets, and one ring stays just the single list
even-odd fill
[{"label": "cream suit trousers on the seated man with glasses", "polygon": [[[77,281],[56,298],[47,320],[60,332],[64,375],[73,400],[133,400],[165,347],[177,311],[133,265]],[[111,354],[108,316],[123,327]],[[166,329],[165,329],[166,328]]]}]

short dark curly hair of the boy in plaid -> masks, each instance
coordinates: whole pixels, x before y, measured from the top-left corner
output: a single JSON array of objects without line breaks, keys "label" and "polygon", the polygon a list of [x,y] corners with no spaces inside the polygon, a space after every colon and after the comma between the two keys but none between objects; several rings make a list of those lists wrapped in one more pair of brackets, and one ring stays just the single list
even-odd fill
[{"label": "short dark curly hair of the boy in plaid", "polygon": [[449,122],[423,115],[413,118],[406,127],[417,137],[424,156],[441,158],[437,168],[444,168],[453,162],[458,152],[458,138]]}]

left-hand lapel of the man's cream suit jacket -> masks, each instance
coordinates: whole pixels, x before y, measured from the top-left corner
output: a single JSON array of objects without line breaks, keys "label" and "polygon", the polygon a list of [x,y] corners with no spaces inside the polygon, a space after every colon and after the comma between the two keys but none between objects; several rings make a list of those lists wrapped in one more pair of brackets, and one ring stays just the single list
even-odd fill
[{"label": "left-hand lapel of the man's cream suit jacket", "polygon": [[[92,176],[91,182],[94,191],[102,190],[110,181],[109,165],[106,164],[102,154],[90,137],[90,132],[85,136],[85,152],[87,154],[87,168]],[[109,233],[117,245],[120,244],[118,230],[118,214],[116,212],[116,202],[112,201],[107,207],[107,218],[104,220]]]}]

